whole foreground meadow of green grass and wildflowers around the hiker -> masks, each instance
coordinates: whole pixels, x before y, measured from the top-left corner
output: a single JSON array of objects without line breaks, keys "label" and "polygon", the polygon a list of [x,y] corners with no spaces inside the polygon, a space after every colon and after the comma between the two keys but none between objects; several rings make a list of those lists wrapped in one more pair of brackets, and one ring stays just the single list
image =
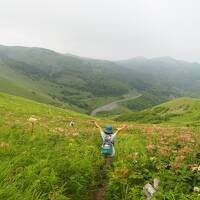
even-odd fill
[{"label": "whole foreground meadow of green grass and wildflowers around the hiker", "polygon": [[[32,115],[38,119],[34,133],[27,122]],[[144,199],[142,188],[154,177],[162,183],[158,199],[198,199],[193,187],[200,186],[199,175],[187,166],[199,162],[194,156],[200,140],[187,129],[129,124],[118,136],[116,158],[106,178],[101,141],[91,118],[3,93],[0,116],[2,200],[95,199],[96,189],[105,180],[107,200]],[[66,126],[72,118],[75,128]],[[101,125],[107,122],[99,121]],[[189,139],[180,140],[185,134]],[[160,140],[164,142],[161,147]],[[188,145],[193,145],[192,151]],[[167,151],[169,147],[173,151]],[[178,152],[185,156],[179,166]]]}]

